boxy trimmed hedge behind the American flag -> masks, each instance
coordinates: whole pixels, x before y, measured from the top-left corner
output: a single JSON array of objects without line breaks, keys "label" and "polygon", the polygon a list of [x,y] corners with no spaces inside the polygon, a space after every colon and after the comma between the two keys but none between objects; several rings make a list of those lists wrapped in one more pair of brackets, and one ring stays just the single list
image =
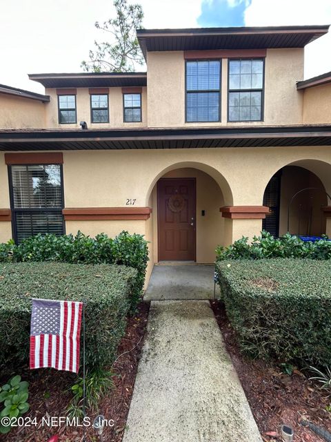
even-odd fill
[{"label": "boxy trimmed hedge behind the American flag", "polygon": [[87,367],[109,366],[125,332],[136,283],[137,270],[119,265],[0,264],[0,369],[29,361],[32,302],[19,296],[85,300]]}]

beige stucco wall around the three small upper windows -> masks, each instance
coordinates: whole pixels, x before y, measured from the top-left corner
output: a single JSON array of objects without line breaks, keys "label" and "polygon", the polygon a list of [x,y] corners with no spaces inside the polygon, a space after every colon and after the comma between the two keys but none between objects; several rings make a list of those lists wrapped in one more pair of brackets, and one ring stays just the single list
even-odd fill
[{"label": "beige stucco wall around the three small upper windows", "polygon": [[77,88],[77,124],[59,124],[59,112],[57,103],[57,90],[46,89],[50,95],[50,103],[47,106],[46,125],[48,128],[80,128],[79,122],[87,122],[88,128],[134,128],[147,125],[147,93],[146,87],[141,93],[141,117],[140,123],[123,122],[123,94],[121,88],[109,88],[109,123],[91,123],[90,94],[88,88]]}]

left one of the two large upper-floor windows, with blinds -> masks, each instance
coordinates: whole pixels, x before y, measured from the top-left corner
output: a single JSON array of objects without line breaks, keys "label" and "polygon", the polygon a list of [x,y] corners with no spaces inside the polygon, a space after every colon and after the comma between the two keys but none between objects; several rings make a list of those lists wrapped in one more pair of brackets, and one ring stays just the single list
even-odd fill
[{"label": "left one of the two large upper-floor windows, with blinds", "polygon": [[221,62],[186,61],[186,121],[219,122]]}]

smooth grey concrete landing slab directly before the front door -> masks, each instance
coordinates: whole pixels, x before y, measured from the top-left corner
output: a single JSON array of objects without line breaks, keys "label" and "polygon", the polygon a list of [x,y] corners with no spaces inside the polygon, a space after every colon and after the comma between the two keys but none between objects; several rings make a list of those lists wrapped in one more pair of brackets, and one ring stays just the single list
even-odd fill
[{"label": "smooth grey concrete landing slab directly before the front door", "polygon": [[144,300],[211,299],[214,265],[155,265]]}]

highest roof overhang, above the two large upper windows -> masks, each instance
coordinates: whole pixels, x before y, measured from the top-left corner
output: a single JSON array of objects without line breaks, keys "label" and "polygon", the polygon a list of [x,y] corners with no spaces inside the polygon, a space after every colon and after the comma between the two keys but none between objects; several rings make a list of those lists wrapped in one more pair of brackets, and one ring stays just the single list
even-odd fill
[{"label": "highest roof overhang, above the two large upper windows", "polygon": [[328,32],[329,25],[238,28],[138,29],[143,55],[148,51],[303,48]]}]

